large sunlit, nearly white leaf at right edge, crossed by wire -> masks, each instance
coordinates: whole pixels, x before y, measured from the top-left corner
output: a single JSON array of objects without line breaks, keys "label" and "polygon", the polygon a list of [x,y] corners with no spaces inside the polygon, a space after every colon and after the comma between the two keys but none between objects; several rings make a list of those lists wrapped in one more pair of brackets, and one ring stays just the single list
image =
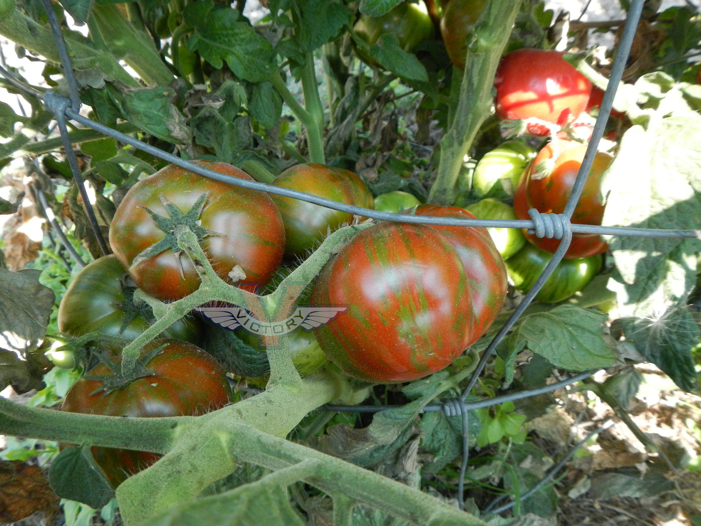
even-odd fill
[{"label": "large sunlit, nearly white leaf at right edge, crossed by wire", "polygon": [[[661,119],[644,130],[633,126],[602,178],[608,194],[606,226],[701,229],[701,116]],[[695,285],[701,241],[688,238],[615,236],[609,241],[622,316],[650,316],[683,302]]]}]

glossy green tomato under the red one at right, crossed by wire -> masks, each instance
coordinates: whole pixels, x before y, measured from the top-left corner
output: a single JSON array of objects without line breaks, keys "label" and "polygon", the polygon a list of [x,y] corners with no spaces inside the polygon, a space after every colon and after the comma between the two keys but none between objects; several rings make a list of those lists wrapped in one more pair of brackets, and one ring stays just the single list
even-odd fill
[{"label": "glossy green tomato under the red one at right, crossed by wire", "polygon": [[[550,259],[552,254],[526,243],[524,248],[506,260],[506,269],[515,288],[521,292],[531,290]],[[599,274],[601,266],[600,255],[563,259],[538,291],[536,299],[545,303],[564,301],[592,281]]]}]

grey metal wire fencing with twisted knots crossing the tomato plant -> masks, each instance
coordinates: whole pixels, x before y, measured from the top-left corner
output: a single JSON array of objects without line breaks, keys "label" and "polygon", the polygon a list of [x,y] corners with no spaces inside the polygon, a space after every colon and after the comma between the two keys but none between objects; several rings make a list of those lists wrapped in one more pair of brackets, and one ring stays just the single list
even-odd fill
[{"label": "grey metal wire fencing with twisted knots crossing the tomato plant", "polygon": [[[184,159],[180,159],[177,156],[174,156],[172,154],[168,154],[165,151],[162,151],[161,149],[157,149],[155,147],[151,147],[149,144],[146,144],[144,142],[141,142],[139,140],[136,140],[134,137],[130,137],[129,135],[125,135],[123,133],[118,133],[116,130],[112,130],[111,128],[108,128],[107,126],[104,126],[100,123],[96,123],[94,121],[91,121],[90,119],[87,119],[86,117],[82,116],[79,114],[79,109],[80,109],[80,99],[79,99],[79,91],[78,91],[78,86],[74,78],[73,74],[73,69],[70,64],[69,56],[68,53],[65,49],[65,43],[63,42],[62,35],[60,33],[60,27],[58,26],[57,18],[55,17],[55,13],[53,13],[53,10],[50,8],[50,2],[49,0],[42,0],[44,3],[44,6],[46,6],[46,11],[47,15],[49,17],[49,22],[50,25],[54,31],[56,43],[57,43],[57,48],[60,53],[60,58],[61,62],[64,68],[64,73],[66,74],[66,79],[69,84],[69,91],[71,95],[71,100],[66,99],[65,97],[62,97],[61,95],[58,95],[57,93],[49,92],[44,95],[43,93],[39,92],[38,90],[35,90],[34,88],[31,88],[29,86],[26,86],[24,83],[18,81],[17,79],[14,78],[13,75],[11,75],[6,69],[0,67],[0,74],[2,74],[6,79],[8,79],[8,82],[10,82],[15,88],[18,88],[19,90],[22,90],[23,93],[27,93],[29,95],[32,95],[34,97],[38,97],[40,99],[43,99],[46,107],[50,109],[55,115],[57,119],[57,124],[58,128],[60,130],[60,135],[62,137],[63,143],[64,143],[64,149],[66,150],[66,156],[69,162],[69,165],[71,166],[72,173],[74,175],[74,178],[76,180],[76,184],[79,186],[79,190],[81,191],[81,196],[83,197],[83,203],[85,203],[86,210],[88,212],[88,218],[90,220],[91,226],[93,226],[93,231],[95,231],[95,236],[97,237],[98,243],[100,243],[100,248],[101,250],[106,254],[107,253],[107,245],[104,243],[104,238],[102,238],[102,233],[100,231],[99,226],[97,225],[97,221],[95,220],[95,215],[93,213],[92,206],[90,205],[90,201],[88,200],[87,195],[85,194],[85,188],[83,186],[82,182],[82,177],[80,174],[80,170],[78,168],[77,164],[77,159],[75,157],[74,151],[72,149],[72,145],[70,144],[69,136],[68,136],[68,131],[66,128],[66,118],[68,117],[69,119],[72,119],[78,123],[83,124],[83,126],[88,126],[89,128],[93,128],[93,130],[100,131],[101,133],[104,133],[104,135],[107,135],[108,137],[114,137],[117,140],[125,143],[125,144],[130,144],[133,147],[136,147],[137,149],[140,149],[142,151],[147,152],[148,154],[154,155],[160,159],[163,159],[164,161],[168,161],[170,163],[175,163],[178,166],[181,166],[182,168],[185,168],[186,170],[191,170],[194,173],[198,173],[200,175],[203,175],[205,177],[210,177],[214,180],[226,182],[229,184],[234,184],[236,186],[240,187],[246,187],[246,188],[251,188],[251,189],[256,189],[260,191],[266,191],[271,194],[278,194],[281,196],[287,196],[287,197],[292,197],[292,198],[297,198],[300,199],[301,201],[307,201],[309,203],[314,203],[317,205],[322,205],[327,208],[332,208],[335,210],[340,210],[342,212],[346,213],[351,213],[355,215],[360,215],[364,217],[371,217],[372,219],[375,220],[389,220],[389,221],[398,221],[398,222],[409,222],[409,223],[418,223],[418,224],[444,224],[444,225],[458,225],[458,226],[468,226],[468,227],[510,227],[510,228],[527,228],[527,229],[533,229],[533,231],[536,232],[536,235],[539,237],[550,237],[550,238],[558,238],[561,239],[561,243],[559,244],[559,247],[557,248],[556,252],[554,253],[552,259],[550,259],[550,262],[547,264],[547,267],[545,267],[545,270],[543,273],[540,275],[538,280],[536,281],[536,284],[533,285],[533,288],[526,294],[522,302],[519,304],[517,309],[512,313],[512,316],[508,319],[508,321],[503,325],[501,330],[498,331],[498,333],[494,336],[494,338],[491,340],[489,346],[487,349],[484,351],[482,358],[480,359],[475,372],[473,372],[472,377],[470,377],[470,380],[468,382],[468,386],[465,388],[463,391],[462,395],[460,398],[454,399],[454,400],[447,400],[442,404],[437,404],[437,405],[429,405],[424,408],[424,411],[436,411],[436,410],[441,410],[444,411],[447,415],[449,416],[458,416],[458,414],[461,416],[462,421],[463,421],[463,459],[461,463],[461,471],[460,471],[460,476],[458,478],[458,502],[460,503],[461,508],[463,508],[463,490],[464,490],[464,484],[465,484],[465,471],[467,468],[468,464],[468,411],[470,409],[477,409],[478,407],[489,407],[491,405],[496,405],[499,403],[504,403],[505,401],[510,401],[510,400],[517,400],[519,398],[526,398],[528,396],[533,396],[536,393],[541,393],[541,392],[548,392],[552,391],[554,389],[559,389],[560,386],[568,385],[573,382],[578,382],[580,379],[584,379],[585,377],[589,376],[590,373],[585,372],[582,373],[581,375],[576,375],[575,377],[572,377],[570,379],[566,379],[563,382],[558,382],[558,384],[552,384],[550,386],[545,386],[543,388],[538,388],[538,389],[531,389],[529,391],[521,391],[519,393],[512,393],[510,395],[506,396],[501,396],[501,397],[495,397],[491,398],[490,400],[479,400],[479,402],[470,402],[470,403],[465,403],[465,398],[468,397],[470,391],[475,386],[475,382],[477,382],[477,378],[479,375],[482,373],[482,370],[484,370],[484,367],[486,365],[486,362],[489,360],[491,355],[494,353],[494,350],[496,349],[496,346],[498,343],[501,341],[501,339],[505,336],[505,334],[510,330],[510,328],[514,325],[514,323],[517,321],[519,316],[523,313],[523,311],[526,309],[526,307],[531,303],[533,298],[536,296],[540,288],[543,286],[545,281],[547,281],[547,278],[550,277],[552,274],[552,271],[554,268],[557,266],[557,264],[562,260],[562,257],[564,256],[564,252],[566,252],[567,248],[569,247],[569,244],[571,243],[571,238],[573,233],[577,234],[604,234],[604,235],[625,235],[625,236],[646,236],[646,237],[688,237],[688,238],[701,238],[701,231],[698,230],[664,230],[664,229],[631,229],[631,228],[621,228],[621,227],[601,227],[601,226],[594,226],[594,225],[582,225],[582,224],[571,224],[570,218],[572,216],[573,210],[576,206],[576,203],[578,202],[578,199],[580,197],[580,194],[582,192],[582,189],[585,184],[586,177],[589,173],[589,170],[592,166],[592,161],[594,160],[594,155],[596,154],[597,151],[597,145],[599,143],[599,140],[601,140],[601,137],[604,133],[604,127],[606,126],[606,120],[608,119],[608,114],[611,112],[611,107],[613,104],[613,96],[615,95],[615,90],[618,88],[618,83],[620,82],[620,79],[622,78],[622,72],[623,69],[625,69],[625,62],[627,60],[627,57],[629,55],[629,50],[630,50],[630,45],[632,43],[632,39],[634,36],[635,29],[637,27],[637,23],[640,17],[640,13],[642,11],[643,7],[643,0],[633,0],[632,1],[632,6],[630,7],[630,11],[628,14],[627,18],[627,23],[625,25],[622,38],[620,41],[620,45],[618,48],[618,54],[616,55],[614,64],[613,64],[613,69],[611,72],[611,77],[610,81],[608,83],[608,88],[606,89],[606,92],[604,93],[603,100],[601,101],[601,107],[599,109],[599,117],[597,119],[597,122],[594,125],[594,130],[592,131],[592,137],[590,139],[590,144],[589,147],[587,147],[587,152],[585,154],[582,166],[580,168],[580,172],[578,173],[578,177],[576,180],[576,183],[573,186],[572,194],[569,198],[569,201],[566,205],[566,208],[564,210],[564,214],[559,215],[557,217],[552,217],[552,215],[545,215],[545,214],[540,214],[537,213],[536,210],[529,210],[529,215],[531,215],[531,221],[524,221],[524,220],[456,220],[452,218],[447,218],[447,217],[430,217],[430,216],[415,216],[415,215],[400,215],[400,214],[395,214],[395,213],[383,213],[383,212],[377,212],[375,210],[368,210],[366,208],[360,208],[357,206],[351,206],[351,205],[346,205],[344,203],[337,203],[335,201],[331,201],[326,198],[321,198],[319,196],[314,196],[313,194],[305,194],[304,192],[299,192],[299,191],[294,191],[290,189],[284,189],[280,187],[276,187],[274,185],[270,184],[264,184],[264,183],[259,183],[259,182],[254,182],[254,181],[248,181],[248,180],[243,180],[243,179],[238,179],[236,177],[230,177],[224,174],[220,174],[217,172],[214,172],[212,170],[207,170],[206,168],[201,168],[200,166],[196,166],[193,163],[189,163],[188,161],[185,161]],[[52,16],[53,14],[53,16]],[[41,189],[37,192],[37,195],[39,195],[39,198],[41,200],[41,196],[43,195],[41,193]],[[46,201],[46,197],[44,196],[43,201]],[[43,205],[43,203],[42,203]],[[50,210],[48,207],[45,206],[45,210]],[[60,228],[57,229],[57,232],[60,231]],[[71,250],[69,248],[70,243],[65,245],[67,250]],[[80,258],[78,258],[80,259]],[[333,411],[341,411],[341,410],[353,410],[355,412],[376,412],[379,410],[386,410],[390,407],[388,406],[382,406],[382,407],[358,407],[358,406],[339,406],[339,405],[325,405],[322,406],[320,409],[322,410],[333,410]],[[594,431],[590,433],[585,440],[583,440],[580,444],[578,444],[575,449],[570,452],[564,459],[562,459],[557,466],[555,466],[548,476],[544,478],[536,487],[533,487],[529,492],[524,494],[523,499],[526,499],[531,496],[531,494],[535,493],[540,487],[542,487],[543,484],[552,476],[554,476],[554,473],[557,473],[557,470],[559,470],[560,467],[564,465],[564,462],[569,460],[571,457],[571,454],[573,454],[574,451],[583,443],[585,443],[586,440],[590,438],[594,433],[600,432],[604,426],[601,426],[601,428],[597,429],[597,431]],[[496,504],[493,503],[493,505]],[[494,506],[491,505],[490,508],[493,508]],[[494,510],[494,513],[501,513],[502,511],[506,511],[512,506],[514,506],[515,503],[510,503],[506,506],[501,506],[501,508],[497,508]]]}]

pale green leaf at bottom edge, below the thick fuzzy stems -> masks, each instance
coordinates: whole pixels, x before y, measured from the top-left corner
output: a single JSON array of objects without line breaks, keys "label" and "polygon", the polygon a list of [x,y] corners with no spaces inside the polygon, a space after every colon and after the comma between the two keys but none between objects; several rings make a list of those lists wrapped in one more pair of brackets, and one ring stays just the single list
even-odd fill
[{"label": "pale green leaf at bottom edge, below the thick fuzzy stems", "polygon": [[142,522],[142,526],[304,526],[306,522],[290,504],[286,485],[273,482],[281,471],[235,490],[176,504]]}]

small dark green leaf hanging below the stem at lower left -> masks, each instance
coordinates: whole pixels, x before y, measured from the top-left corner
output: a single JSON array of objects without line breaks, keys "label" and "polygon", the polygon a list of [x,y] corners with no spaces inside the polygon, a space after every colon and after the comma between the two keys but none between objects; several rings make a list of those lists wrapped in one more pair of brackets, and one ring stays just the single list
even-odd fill
[{"label": "small dark green leaf hanging below the stem at lower left", "polygon": [[88,445],[62,450],[51,462],[48,482],[62,499],[78,501],[90,508],[102,508],[114,497],[114,490]]}]

